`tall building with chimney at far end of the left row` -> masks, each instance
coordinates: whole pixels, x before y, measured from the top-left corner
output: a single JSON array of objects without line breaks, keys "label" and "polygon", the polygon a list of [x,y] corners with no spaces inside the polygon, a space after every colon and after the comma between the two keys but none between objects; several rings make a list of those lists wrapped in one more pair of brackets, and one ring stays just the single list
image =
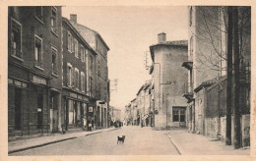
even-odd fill
[{"label": "tall building with chimney at far end of the left row", "polygon": [[96,128],[106,128],[110,100],[107,67],[109,47],[96,30],[78,24],[77,15],[70,15],[70,22],[96,52],[96,116],[99,116],[96,118]]}]

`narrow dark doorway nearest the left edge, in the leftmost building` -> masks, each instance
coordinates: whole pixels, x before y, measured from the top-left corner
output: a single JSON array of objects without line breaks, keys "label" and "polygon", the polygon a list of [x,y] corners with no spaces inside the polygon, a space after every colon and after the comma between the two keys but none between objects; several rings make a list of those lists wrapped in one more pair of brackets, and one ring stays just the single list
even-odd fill
[{"label": "narrow dark doorway nearest the left edge, in the leftmost building", "polygon": [[22,89],[15,88],[15,130],[22,130]]}]

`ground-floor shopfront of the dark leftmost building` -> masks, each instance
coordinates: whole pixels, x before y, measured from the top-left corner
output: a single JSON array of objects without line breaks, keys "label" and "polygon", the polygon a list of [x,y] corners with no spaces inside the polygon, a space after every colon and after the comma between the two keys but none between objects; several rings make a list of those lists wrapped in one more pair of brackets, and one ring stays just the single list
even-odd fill
[{"label": "ground-floor shopfront of the dark leftmost building", "polygon": [[8,135],[20,137],[58,132],[60,91],[50,79],[29,69],[9,66]]}]

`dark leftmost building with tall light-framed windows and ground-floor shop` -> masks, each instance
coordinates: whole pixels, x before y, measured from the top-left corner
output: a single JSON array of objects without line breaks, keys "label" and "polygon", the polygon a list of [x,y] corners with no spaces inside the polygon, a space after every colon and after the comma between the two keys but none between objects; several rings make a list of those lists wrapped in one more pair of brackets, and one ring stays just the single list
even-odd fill
[{"label": "dark leftmost building with tall light-framed windows and ground-floor shop", "polygon": [[61,129],[61,7],[8,8],[8,135]]}]

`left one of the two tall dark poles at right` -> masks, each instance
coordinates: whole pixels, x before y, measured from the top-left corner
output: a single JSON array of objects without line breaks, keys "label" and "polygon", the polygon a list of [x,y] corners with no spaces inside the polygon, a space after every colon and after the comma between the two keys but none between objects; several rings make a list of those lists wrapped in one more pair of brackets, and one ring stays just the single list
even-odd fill
[{"label": "left one of the two tall dark poles at right", "polygon": [[232,106],[232,7],[227,7],[227,85],[226,85],[226,125],[225,144],[231,144],[231,106]]}]

